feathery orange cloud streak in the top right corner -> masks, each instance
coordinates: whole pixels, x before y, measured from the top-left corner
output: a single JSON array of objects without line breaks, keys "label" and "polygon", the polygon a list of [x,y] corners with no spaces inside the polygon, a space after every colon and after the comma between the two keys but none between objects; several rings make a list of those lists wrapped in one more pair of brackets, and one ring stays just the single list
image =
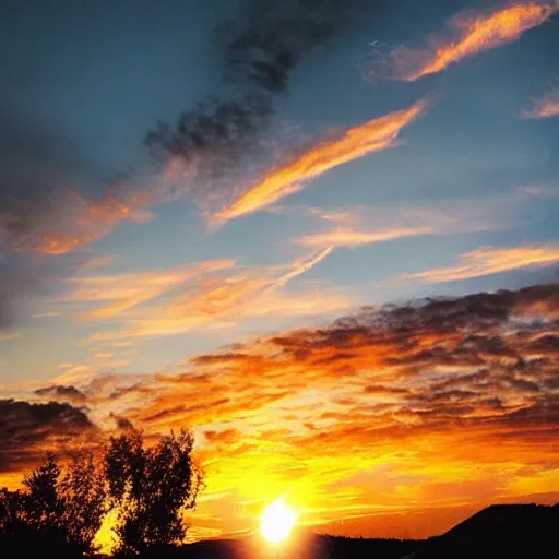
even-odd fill
[{"label": "feathery orange cloud streak in the top right corner", "polygon": [[491,13],[457,14],[450,21],[451,37],[433,36],[426,49],[402,47],[392,53],[395,78],[413,82],[464,58],[518,40],[558,10],[557,3],[521,2]]}]

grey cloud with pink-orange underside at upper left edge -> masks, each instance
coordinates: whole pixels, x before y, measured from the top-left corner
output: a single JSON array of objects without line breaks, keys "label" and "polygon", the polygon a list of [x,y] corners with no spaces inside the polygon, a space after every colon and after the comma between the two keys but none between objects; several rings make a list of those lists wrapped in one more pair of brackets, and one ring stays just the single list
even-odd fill
[{"label": "grey cloud with pink-orange underside at upper left edge", "polygon": [[0,130],[8,162],[1,176],[0,239],[3,234],[12,250],[62,254],[94,242],[122,221],[151,218],[116,173],[107,179],[110,170],[90,162],[62,132],[41,130],[5,107],[0,107]]}]

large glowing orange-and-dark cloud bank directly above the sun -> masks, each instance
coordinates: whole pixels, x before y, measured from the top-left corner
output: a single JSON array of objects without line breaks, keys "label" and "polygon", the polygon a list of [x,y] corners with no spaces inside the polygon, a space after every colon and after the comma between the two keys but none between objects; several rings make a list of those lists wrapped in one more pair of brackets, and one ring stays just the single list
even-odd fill
[{"label": "large glowing orange-and-dark cloud bank directly above the sun", "polygon": [[[207,473],[195,530],[227,533],[233,509],[250,527],[289,491],[306,524],[397,512],[383,528],[403,537],[414,510],[552,490],[558,308],[557,284],[367,307],[83,393],[99,425],[194,427]],[[426,514],[414,535],[442,526]]]}]

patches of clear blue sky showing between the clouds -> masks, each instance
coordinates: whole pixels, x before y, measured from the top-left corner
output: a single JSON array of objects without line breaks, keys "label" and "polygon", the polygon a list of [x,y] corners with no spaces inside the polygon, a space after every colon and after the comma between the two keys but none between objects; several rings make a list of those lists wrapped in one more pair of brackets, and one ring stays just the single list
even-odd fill
[{"label": "patches of clear blue sky showing between the clouds", "polygon": [[[114,258],[106,270],[95,270],[94,275],[164,271],[213,259],[236,259],[249,266],[287,263],[301,254],[298,236],[328,225],[321,227],[320,219],[306,216],[308,209],[365,207],[361,228],[405,226],[409,209],[449,212],[464,223],[450,228],[455,231],[341,248],[295,278],[294,287],[331,285],[350,293],[354,305],[379,305],[433,293],[522,284],[523,277],[530,282],[525,270],[511,270],[508,275],[513,280],[490,274],[457,284],[396,282],[390,289],[376,285],[406,273],[452,265],[461,254],[479,247],[555,245],[558,233],[557,121],[519,118],[531,99],[556,79],[550,48],[557,43],[556,23],[527,29],[518,40],[413,83],[383,80],[376,68],[380,60],[390,63],[392,49],[425,44],[429,33],[444,31],[459,8],[479,8],[464,2],[444,2],[428,10],[414,2],[401,4],[397,10],[365,12],[350,33],[304,58],[288,95],[280,96],[275,115],[277,126],[287,130],[275,140],[281,154],[289,148],[289,141],[312,143],[326,132],[401,110],[436,93],[428,112],[402,131],[397,146],[323,174],[302,192],[280,202],[280,213],[264,209],[212,231],[201,214],[200,197],[185,195],[150,209],[153,216],[148,223],[118,224],[72,253],[32,257],[33,273],[52,274],[52,283],[58,285],[49,285],[43,298],[32,289],[13,305],[16,320],[9,331],[17,337],[2,342],[4,380],[16,380],[23,371],[23,377],[48,378],[58,362],[87,362],[83,341],[105,324],[76,322],[72,313],[37,319],[27,309],[33,305],[36,314],[43,306],[57,307],[57,297],[63,297],[60,281],[74,273],[87,275],[80,270],[80,260],[99,254]],[[234,91],[235,84],[223,80],[212,35],[219,19],[236,13],[226,2],[200,8],[190,2],[93,5],[62,1],[48,9],[37,2],[21,2],[3,10],[5,31],[0,50],[8,87],[2,92],[2,114],[13,130],[23,130],[24,141],[38,139],[36,151],[43,157],[37,176],[28,179],[38,186],[26,183],[20,192],[26,187],[70,188],[93,198],[103,197],[115,177],[130,177],[131,188],[156,181],[142,145],[146,131],[159,120],[177,118],[209,94]],[[31,142],[20,150],[22,165],[33,165],[25,160],[37,155],[33,152]],[[44,187],[43,168],[49,169]],[[235,183],[230,188],[242,191],[248,187]],[[504,205],[522,189],[532,189],[533,194],[526,195],[525,202]],[[225,193],[224,200],[228,195]],[[472,214],[479,215],[484,224],[468,226]],[[418,219],[429,225],[432,218]],[[9,247],[7,250],[7,266],[14,258],[25,259],[10,255]],[[262,317],[248,331],[269,332],[286,323],[296,325],[297,320]],[[189,332],[179,340],[148,341],[130,367],[148,372],[143,369],[146,364],[165,367],[178,352],[190,355],[200,344],[206,349],[217,347],[235,341],[240,332],[243,330]],[[40,352],[41,370],[29,355],[29,344]]]}]

